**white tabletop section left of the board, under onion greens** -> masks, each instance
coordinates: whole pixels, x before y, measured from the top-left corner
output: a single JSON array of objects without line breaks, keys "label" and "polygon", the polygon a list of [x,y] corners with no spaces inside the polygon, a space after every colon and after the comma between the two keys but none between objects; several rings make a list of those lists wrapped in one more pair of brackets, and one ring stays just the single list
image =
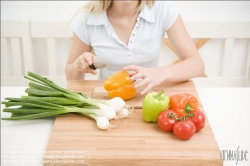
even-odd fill
[{"label": "white tabletop section left of the board, under onion greens", "polygon": [[[5,97],[27,95],[24,91],[25,87],[1,87],[1,101]],[[10,117],[9,113],[2,112],[3,107],[1,105],[1,117]],[[55,117],[27,121],[1,120],[1,165],[42,165],[54,121]]]}]

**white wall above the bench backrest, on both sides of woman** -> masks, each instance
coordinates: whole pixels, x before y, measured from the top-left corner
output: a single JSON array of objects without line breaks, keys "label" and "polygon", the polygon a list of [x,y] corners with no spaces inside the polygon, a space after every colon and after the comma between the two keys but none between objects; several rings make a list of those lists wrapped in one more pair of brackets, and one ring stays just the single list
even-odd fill
[{"label": "white wall above the bench backrest, on both sides of woman", "polygon": [[[69,20],[87,1],[1,1],[1,20]],[[184,21],[250,21],[249,1],[172,1]]]}]

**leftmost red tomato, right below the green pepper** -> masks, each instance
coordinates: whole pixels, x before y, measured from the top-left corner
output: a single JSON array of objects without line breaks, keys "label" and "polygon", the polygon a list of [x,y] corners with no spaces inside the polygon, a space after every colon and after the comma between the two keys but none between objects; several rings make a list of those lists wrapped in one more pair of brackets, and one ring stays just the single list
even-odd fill
[{"label": "leftmost red tomato, right below the green pepper", "polygon": [[172,110],[163,111],[158,116],[158,125],[163,131],[173,131],[175,120],[173,118],[168,118],[169,113],[177,116],[176,112]]}]

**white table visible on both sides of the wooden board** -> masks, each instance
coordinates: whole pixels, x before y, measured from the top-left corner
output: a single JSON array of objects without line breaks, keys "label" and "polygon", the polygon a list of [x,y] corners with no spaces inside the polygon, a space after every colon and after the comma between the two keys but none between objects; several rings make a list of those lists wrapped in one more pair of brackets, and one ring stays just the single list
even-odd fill
[{"label": "white table visible on both sides of the wooden board", "polygon": [[[1,87],[1,101],[5,97],[26,95],[24,90],[25,87]],[[250,88],[197,88],[197,91],[220,151],[225,153],[238,149],[246,155],[238,163],[224,156],[224,166],[236,163],[249,166]],[[1,111],[1,117],[9,116],[9,113]],[[42,165],[54,121],[55,118],[1,121],[1,165]]]}]

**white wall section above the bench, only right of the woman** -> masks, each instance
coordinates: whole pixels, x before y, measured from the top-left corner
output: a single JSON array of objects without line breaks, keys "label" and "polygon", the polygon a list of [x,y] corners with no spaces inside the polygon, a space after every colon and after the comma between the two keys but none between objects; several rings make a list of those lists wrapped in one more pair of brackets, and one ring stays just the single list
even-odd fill
[{"label": "white wall section above the bench, only right of the woman", "polygon": [[176,1],[184,21],[250,21],[249,1]]}]

